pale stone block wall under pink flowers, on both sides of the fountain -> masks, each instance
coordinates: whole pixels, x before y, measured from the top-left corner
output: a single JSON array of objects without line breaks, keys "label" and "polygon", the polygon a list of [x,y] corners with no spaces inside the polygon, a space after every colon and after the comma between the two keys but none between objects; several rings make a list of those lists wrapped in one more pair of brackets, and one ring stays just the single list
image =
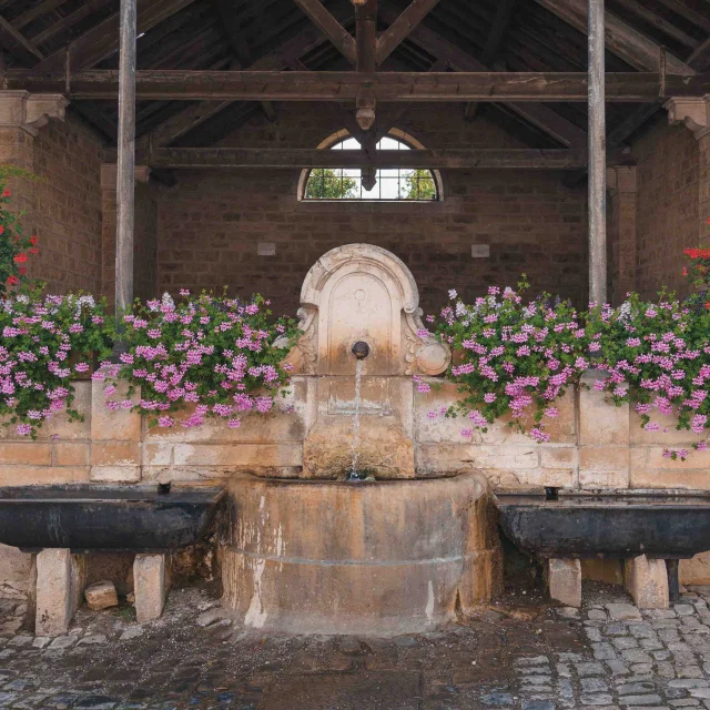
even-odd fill
[{"label": "pale stone block wall under pink flowers, on both sides of the fountain", "polygon": [[[663,456],[667,447],[690,449],[702,435],[678,432],[671,419],[660,422],[659,432],[641,429],[636,413],[608,404],[604,393],[586,387],[568,390],[558,402],[559,417],[546,429],[551,435],[547,444],[536,444],[505,422],[467,440],[460,435],[464,419],[429,417],[457,398],[455,385],[430,382],[438,386],[414,394],[412,437],[418,476],[481,470],[494,486],[503,487],[710,490],[710,452],[693,450],[686,462]],[[588,374],[585,383],[592,382]],[[0,428],[0,485],[195,480],[240,471],[298,477],[303,443],[315,420],[308,394],[314,383],[313,377],[294,377],[291,394],[272,414],[250,414],[237,429],[217,420],[197,428],[152,428],[146,417],[125,409],[109,412],[103,383],[75,383],[83,423],[54,416],[36,442]],[[367,414],[364,397],[363,416],[378,416]]]}]

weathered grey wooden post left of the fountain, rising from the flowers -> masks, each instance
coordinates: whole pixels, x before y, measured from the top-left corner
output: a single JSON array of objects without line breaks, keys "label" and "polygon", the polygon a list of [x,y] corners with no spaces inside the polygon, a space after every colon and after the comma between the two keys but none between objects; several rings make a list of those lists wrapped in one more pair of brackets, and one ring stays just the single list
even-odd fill
[{"label": "weathered grey wooden post left of the fountain, rising from the flowers", "polygon": [[133,302],[135,28],[135,0],[121,0],[115,234],[116,312],[129,307]]}]

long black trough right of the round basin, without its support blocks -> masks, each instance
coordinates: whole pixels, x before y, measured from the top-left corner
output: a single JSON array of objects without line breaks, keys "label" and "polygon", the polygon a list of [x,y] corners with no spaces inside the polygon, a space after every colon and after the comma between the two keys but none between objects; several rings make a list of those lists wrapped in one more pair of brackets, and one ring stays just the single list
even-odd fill
[{"label": "long black trough right of the round basin, without its support blocks", "polygon": [[710,493],[544,491],[494,496],[500,526],[542,558],[689,558],[710,549]]}]

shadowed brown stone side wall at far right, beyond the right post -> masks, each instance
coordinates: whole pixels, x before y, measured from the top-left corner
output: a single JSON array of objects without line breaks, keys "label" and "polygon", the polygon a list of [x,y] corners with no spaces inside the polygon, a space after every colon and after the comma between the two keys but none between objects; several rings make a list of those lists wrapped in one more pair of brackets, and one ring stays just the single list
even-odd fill
[{"label": "shadowed brown stone side wall at far right, beyond the right post", "polygon": [[[665,116],[661,116],[665,119]],[[698,140],[684,125],[657,124],[633,145],[637,161],[636,290],[687,294],[683,247],[698,244]]]}]

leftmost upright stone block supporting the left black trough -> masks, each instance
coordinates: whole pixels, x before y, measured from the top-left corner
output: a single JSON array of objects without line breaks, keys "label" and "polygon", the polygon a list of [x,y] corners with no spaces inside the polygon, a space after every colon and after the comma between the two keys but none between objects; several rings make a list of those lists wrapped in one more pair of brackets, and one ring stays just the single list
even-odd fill
[{"label": "leftmost upright stone block supporting the left black trough", "polygon": [[37,636],[67,633],[85,579],[84,559],[68,549],[45,549],[37,556]]}]

